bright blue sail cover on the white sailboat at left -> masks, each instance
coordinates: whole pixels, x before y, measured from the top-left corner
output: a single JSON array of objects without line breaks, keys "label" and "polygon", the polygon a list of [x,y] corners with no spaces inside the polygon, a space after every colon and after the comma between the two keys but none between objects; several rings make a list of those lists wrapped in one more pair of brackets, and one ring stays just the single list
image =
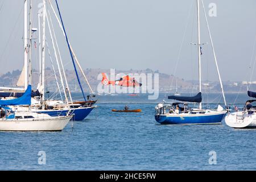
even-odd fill
[{"label": "bright blue sail cover on the white sailboat at left", "polygon": [[27,86],[23,96],[11,100],[0,100],[2,106],[31,105],[31,85]]}]

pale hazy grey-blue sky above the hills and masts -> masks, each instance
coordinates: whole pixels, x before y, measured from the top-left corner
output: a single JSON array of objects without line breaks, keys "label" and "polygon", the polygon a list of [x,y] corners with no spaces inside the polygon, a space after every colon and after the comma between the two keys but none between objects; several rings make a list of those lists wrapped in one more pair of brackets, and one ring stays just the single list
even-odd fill
[{"label": "pale hazy grey-blue sky above the hills and masts", "polygon": [[[40,2],[32,1],[33,27],[38,27]],[[210,3],[216,4],[216,17],[208,14]],[[63,0],[59,6],[82,68],[150,68],[197,80],[197,47],[191,44],[197,42],[195,0]],[[222,80],[250,80],[250,74],[256,80],[256,1],[204,0],[204,6]],[[206,43],[202,77],[214,81],[218,77],[202,7],[200,11],[201,42]],[[0,73],[22,69],[23,0],[0,0],[0,23]],[[64,36],[53,24],[65,68],[73,69]],[[46,36],[54,59],[48,30]],[[39,68],[38,32],[34,38],[32,66]],[[48,53],[46,65],[51,67]]]}]

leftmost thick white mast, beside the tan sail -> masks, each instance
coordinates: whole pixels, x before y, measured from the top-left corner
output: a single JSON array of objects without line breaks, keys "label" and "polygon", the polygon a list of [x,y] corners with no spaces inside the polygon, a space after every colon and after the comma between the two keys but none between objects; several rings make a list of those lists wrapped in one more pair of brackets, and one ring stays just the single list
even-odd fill
[{"label": "leftmost thick white mast, beside the tan sail", "polygon": [[27,89],[27,0],[24,0],[24,90]]}]

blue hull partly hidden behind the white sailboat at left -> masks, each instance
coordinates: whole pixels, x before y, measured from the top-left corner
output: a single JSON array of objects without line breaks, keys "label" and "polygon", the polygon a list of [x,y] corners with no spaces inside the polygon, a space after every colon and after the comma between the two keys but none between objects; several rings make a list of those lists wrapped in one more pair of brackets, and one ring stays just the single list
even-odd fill
[{"label": "blue hull partly hidden behind the white sailboat at left", "polygon": [[[82,121],[87,117],[88,114],[94,109],[94,107],[82,107],[82,108],[75,108],[71,109],[71,113],[74,114],[72,119],[74,121]],[[57,116],[57,115],[67,115],[68,109],[66,110],[42,110],[42,111],[36,111],[36,113],[43,113],[43,114],[49,114],[51,116]]]}]

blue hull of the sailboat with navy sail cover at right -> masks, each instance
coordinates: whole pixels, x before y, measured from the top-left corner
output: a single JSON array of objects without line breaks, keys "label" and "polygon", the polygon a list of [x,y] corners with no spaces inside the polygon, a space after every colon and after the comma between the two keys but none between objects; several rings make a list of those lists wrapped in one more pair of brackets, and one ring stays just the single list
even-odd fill
[{"label": "blue hull of the sailboat with navy sail cover at right", "polygon": [[187,115],[187,116],[174,116],[174,115],[155,115],[155,120],[163,125],[167,124],[183,124],[183,125],[196,125],[196,124],[219,124],[225,117],[226,113],[216,114],[202,114],[202,115]]}]

